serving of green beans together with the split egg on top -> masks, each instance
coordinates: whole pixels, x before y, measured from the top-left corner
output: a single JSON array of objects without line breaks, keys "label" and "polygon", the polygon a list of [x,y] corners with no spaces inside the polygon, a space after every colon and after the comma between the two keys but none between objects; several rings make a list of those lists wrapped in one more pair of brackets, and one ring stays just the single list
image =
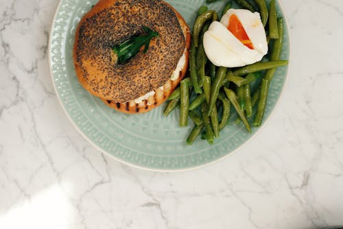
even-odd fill
[{"label": "serving of green beans together with the split egg on top", "polygon": [[280,59],[284,23],[277,17],[275,0],[270,1],[269,12],[265,0],[255,0],[259,12],[248,1],[236,2],[249,10],[231,9],[228,1],[218,19],[215,10],[199,8],[189,54],[190,77],[181,81],[165,108],[167,116],[180,104],[180,126],[187,126],[187,117],[193,121],[189,145],[198,136],[213,144],[231,114],[248,132],[261,125],[276,68],[288,64]]}]

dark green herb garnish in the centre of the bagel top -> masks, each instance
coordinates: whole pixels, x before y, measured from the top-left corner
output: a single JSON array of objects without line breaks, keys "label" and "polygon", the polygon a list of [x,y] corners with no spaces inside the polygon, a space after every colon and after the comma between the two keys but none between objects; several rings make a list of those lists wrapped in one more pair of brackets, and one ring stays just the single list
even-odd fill
[{"label": "dark green herb garnish in the centre of the bagel top", "polygon": [[158,36],[158,32],[154,32],[148,27],[143,26],[143,30],[146,34],[132,36],[132,38],[129,38],[113,48],[113,51],[117,54],[119,64],[125,64],[130,58],[136,56],[143,45],[143,53],[146,53],[149,48],[150,40]]}]

